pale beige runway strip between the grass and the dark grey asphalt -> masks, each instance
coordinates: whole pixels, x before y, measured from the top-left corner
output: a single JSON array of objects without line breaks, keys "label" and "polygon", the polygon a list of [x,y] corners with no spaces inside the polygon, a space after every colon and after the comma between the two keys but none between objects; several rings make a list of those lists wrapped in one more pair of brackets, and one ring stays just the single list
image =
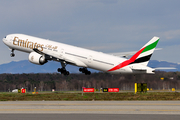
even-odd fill
[{"label": "pale beige runway strip between the grass and the dark grey asphalt", "polygon": [[8,101],[0,113],[179,114],[180,101]]}]

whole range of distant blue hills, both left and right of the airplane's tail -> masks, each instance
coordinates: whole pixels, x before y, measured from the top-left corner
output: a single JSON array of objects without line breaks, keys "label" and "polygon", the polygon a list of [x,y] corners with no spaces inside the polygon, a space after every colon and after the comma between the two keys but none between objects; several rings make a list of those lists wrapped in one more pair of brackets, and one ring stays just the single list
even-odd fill
[{"label": "whole range of distant blue hills, both left and right of the airplane's tail", "polygon": [[[170,63],[166,61],[151,60],[148,64],[149,67],[175,67],[176,70],[168,71],[180,71],[180,64]],[[2,73],[54,73],[57,72],[57,68],[61,67],[61,64],[54,61],[49,61],[44,65],[35,65],[30,63],[28,60],[12,61],[10,63],[0,65],[0,74]],[[79,67],[67,65],[66,69],[70,73],[80,73]],[[91,72],[98,72],[97,70],[89,69]]]}]

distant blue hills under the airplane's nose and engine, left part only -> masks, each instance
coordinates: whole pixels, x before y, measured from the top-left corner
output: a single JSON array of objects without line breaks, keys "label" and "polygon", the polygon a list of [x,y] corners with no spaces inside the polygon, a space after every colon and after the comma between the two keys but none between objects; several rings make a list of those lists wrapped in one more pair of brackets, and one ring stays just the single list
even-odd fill
[{"label": "distant blue hills under the airplane's nose and engine, left part only", "polygon": [[[12,61],[10,63],[0,65],[0,74],[2,73],[54,73],[61,67],[59,62],[49,61],[44,65],[36,65],[30,63],[28,60]],[[80,73],[79,68],[72,65],[67,65],[66,69],[70,73]],[[98,72],[96,70],[89,69],[92,72]]]}]

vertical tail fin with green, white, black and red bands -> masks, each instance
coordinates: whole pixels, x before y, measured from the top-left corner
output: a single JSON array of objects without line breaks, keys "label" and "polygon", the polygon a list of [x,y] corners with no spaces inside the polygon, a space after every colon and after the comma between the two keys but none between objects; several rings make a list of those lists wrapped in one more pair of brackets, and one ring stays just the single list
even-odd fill
[{"label": "vertical tail fin with green, white, black and red bands", "polygon": [[130,58],[131,61],[134,61],[131,64],[138,63],[147,66],[158,42],[159,37],[153,37],[135,55]]}]

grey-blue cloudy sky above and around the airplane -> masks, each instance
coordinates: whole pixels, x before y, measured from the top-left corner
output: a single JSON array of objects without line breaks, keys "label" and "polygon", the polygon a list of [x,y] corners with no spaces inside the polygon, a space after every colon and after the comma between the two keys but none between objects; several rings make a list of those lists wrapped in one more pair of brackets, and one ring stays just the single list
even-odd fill
[{"label": "grey-blue cloudy sky above and around the airplane", "polygon": [[[1,0],[0,38],[23,33],[105,53],[139,50],[153,36],[152,59],[180,63],[179,0]],[[15,58],[1,41],[0,64]]]}]

